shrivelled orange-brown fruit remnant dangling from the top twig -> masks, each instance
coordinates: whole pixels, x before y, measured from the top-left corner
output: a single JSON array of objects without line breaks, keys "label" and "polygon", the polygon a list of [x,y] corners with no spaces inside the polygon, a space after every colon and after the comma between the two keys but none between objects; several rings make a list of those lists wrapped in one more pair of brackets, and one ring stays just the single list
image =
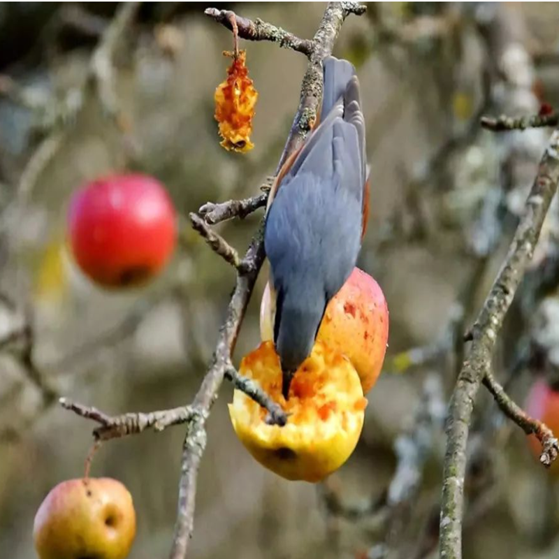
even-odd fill
[{"label": "shrivelled orange-brown fruit remnant dangling from the top twig", "polygon": [[258,92],[245,66],[247,53],[224,52],[233,62],[227,69],[227,79],[215,90],[215,119],[219,122],[220,143],[227,151],[246,153],[252,150],[250,141],[252,117]]}]

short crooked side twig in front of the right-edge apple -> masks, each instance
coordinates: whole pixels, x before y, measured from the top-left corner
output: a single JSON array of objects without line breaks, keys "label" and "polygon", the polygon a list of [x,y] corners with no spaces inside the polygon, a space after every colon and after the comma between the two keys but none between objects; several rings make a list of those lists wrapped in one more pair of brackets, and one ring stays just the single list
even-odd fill
[{"label": "short crooked side twig in front of the right-edge apple", "polygon": [[551,466],[556,460],[559,452],[559,443],[551,429],[546,426],[542,421],[530,417],[520,406],[518,406],[507,393],[503,387],[495,380],[491,370],[488,370],[484,377],[484,386],[493,394],[495,402],[498,403],[501,411],[518,427],[520,427],[526,435],[537,437],[537,440],[542,444],[542,455],[539,461],[546,467]]}]

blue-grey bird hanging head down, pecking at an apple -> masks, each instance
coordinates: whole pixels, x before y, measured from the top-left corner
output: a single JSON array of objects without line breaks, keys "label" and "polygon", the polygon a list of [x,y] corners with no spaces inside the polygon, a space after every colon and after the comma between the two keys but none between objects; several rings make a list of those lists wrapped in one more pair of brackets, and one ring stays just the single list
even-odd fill
[{"label": "blue-grey bird hanging head down, pecking at an apple", "polygon": [[368,222],[370,167],[356,70],[327,57],[323,80],[317,121],[277,173],[266,207],[271,324],[286,400],[326,306],[356,266]]}]

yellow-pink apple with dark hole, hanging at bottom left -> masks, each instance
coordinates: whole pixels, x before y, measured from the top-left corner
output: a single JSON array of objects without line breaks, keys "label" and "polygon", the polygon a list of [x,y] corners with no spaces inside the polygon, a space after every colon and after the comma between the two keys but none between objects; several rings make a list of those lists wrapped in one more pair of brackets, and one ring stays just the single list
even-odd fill
[{"label": "yellow-pink apple with dark hole, hanging at bottom left", "polygon": [[136,536],[129,491],[116,479],[70,479],[52,488],[34,522],[40,559],[124,559]]}]

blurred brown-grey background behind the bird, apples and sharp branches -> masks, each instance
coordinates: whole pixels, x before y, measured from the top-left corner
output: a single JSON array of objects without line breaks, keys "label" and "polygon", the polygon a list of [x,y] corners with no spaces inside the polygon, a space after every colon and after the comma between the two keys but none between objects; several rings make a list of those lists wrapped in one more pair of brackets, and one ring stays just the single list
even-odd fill
[{"label": "blurred brown-grey background behind the bird, apples and sharp branches", "polygon": [[[187,215],[257,194],[274,173],[306,60],[241,41],[259,91],[255,147],[226,152],[213,94],[232,37],[203,15],[208,6],[140,6],[111,45],[111,99],[90,78],[118,4],[0,3],[0,556],[34,557],[38,505],[82,475],[92,442],[92,423],[58,407],[38,378],[111,414],[150,411],[189,402],[210,361],[235,275]],[[325,7],[219,6],[304,38]],[[479,117],[559,103],[558,22],[554,3],[484,2],[370,3],[347,19],[334,54],[356,65],[363,89],[372,191],[359,266],[389,304],[384,372],[356,452],[318,486],[284,481],[249,456],[233,434],[225,384],[209,420],[192,558],[435,556],[443,421],[462,335],[549,138],[546,129],[484,131]],[[182,216],[165,273],[125,293],[96,288],[64,253],[71,193],[115,170],[157,177]],[[217,230],[244,252],[261,213]],[[495,355],[495,375],[519,402],[538,375],[557,381],[558,217],[554,204]],[[263,277],[235,364],[259,343]],[[135,559],[170,547],[183,437],[178,426],[108,442],[96,455],[92,474],[123,481],[136,503]],[[559,556],[558,478],[483,391],[469,451],[465,557]]]}]

